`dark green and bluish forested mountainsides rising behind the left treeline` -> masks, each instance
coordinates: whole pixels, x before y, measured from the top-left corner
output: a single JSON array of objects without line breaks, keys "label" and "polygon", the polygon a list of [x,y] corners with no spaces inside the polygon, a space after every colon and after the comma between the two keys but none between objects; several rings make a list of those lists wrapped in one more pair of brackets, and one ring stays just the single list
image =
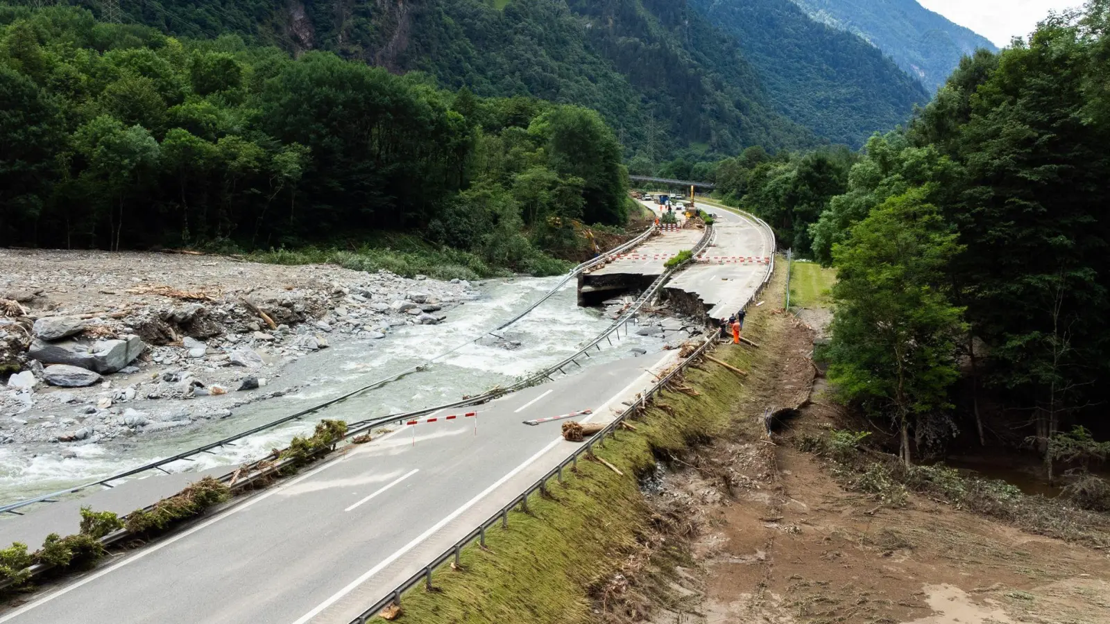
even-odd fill
[{"label": "dark green and bluish forested mountainsides rising behind the left treeline", "polygon": [[[99,11],[92,0],[71,1]],[[743,33],[718,28],[702,3],[687,0],[120,4],[124,21],[165,33],[232,31],[294,53],[327,50],[395,73],[421,70],[443,87],[466,85],[483,97],[588,107],[614,128],[627,157],[656,164],[690,147],[717,154],[751,144],[858,147],[927,99],[857,39],[816,36],[823,29],[789,0],[753,4],[760,41],[790,42],[769,60],[748,58]],[[779,18],[784,12],[790,20]],[[768,63],[784,59],[785,76],[769,83]]]}]

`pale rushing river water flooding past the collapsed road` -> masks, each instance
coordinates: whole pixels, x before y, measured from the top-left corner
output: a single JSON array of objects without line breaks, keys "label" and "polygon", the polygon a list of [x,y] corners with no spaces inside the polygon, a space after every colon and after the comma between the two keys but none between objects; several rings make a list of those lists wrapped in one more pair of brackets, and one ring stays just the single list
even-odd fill
[{"label": "pale rushing river water flooding past the collapsed road", "polygon": [[[300,390],[243,405],[229,419],[200,421],[176,431],[72,446],[75,457],[62,457],[57,452],[57,445],[4,445],[0,447],[0,502],[102,479],[221,440],[387,378],[480,336],[542,296],[558,280],[555,276],[486,281],[478,286],[480,299],[452,309],[447,320],[438,325],[406,325],[376,341],[336,341],[331,349],[286,365],[281,376],[271,384],[273,389],[297,385]],[[201,454],[193,462],[176,462],[167,469],[183,472],[236,465],[265,455],[271,449],[283,447],[294,435],[311,432],[320,419],[353,422],[456,401],[464,394],[477,394],[495,385],[506,385],[521,375],[566,358],[577,350],[576,345],[601,333],[609,322],[599,310],[577,306],[575,283],[572,281],[503,332],[504,338],[521,342],[516,349],[467,344],[425,371],[325,407],[303,421],[261,432],[236,442],[234,446],[224,446],[213,454]],[[622,334],[619,342],[614,340],[614,348],[595,351],[592,358],[582,361],[582,369],[571,366],[573,370],[567,370],[567,373],[581,374],[591,366],[626,358],[629,350],[637,346],[649,353],[656,352],[662,349],[663,341],[635,333],[628,336]]]}]

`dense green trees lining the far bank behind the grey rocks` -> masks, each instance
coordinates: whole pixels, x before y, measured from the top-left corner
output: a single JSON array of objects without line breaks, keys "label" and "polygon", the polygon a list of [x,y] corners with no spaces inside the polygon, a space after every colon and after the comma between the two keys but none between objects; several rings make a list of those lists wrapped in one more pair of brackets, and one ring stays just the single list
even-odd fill
[{"label": "dense green trees lining the far bank behind the grey rocks", "polygon": [[[483,100],[324,52],[0,9],[0,244],[300,245],[424,232],[543,272],[625,220],[588,109]],[[555,264],[556,266],[557,263]]]}]

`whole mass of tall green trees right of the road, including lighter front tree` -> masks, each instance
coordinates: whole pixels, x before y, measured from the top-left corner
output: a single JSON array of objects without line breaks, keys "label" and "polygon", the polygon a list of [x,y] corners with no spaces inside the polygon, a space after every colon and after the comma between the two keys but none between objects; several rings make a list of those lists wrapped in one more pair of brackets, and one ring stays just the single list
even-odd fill
[{"label": "whole mass of tall green trees right of the road, including lighter front tree", "polygon": [[717,167],[837,266],[829,381],[888,419],[906,462],[958,432],[1037,449],[1050,479],[1107,456],[1108,16],[1097,0],[966,58],[850,170],[827,151]]}]

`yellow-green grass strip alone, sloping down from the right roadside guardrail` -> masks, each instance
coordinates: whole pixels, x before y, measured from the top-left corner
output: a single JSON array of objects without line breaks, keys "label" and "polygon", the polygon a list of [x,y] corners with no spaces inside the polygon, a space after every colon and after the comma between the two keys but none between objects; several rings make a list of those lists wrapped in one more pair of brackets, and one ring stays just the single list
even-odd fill
[{"label": "yellow-green grass strip alone, sloping down from the right roadside guardrail", "polygon": [[[781,289],[783,280],[776,281]],[[769,326],[769,308],[756,309],[745,325],[746,335],[756,342]],[[714,355],[741,369],[758,369],[768,353],[728,345]],[[433,574],[436,592],[420,586],[406,593],[402,621],[593,621],[591,590],[637,550],[637,539],[650,521],[635,475],[654,464],[653,451],[679,451],[736,419],[736,404],[745,391],[735,374],[708,362],[688,370],[686,383],[700,395],[664,392],[634,421],[636,432],[623,431],[598,451],[624,476],[579,461],[576,473],[564,473],[563,485],[553,483],[551,497],[528,501],[529,514],[513,513],[507,530],[492,529],[486,550],[476,544],[465,548],[463,572],[443,567]],[[660,403],[674,413],[660,409]]]}]

